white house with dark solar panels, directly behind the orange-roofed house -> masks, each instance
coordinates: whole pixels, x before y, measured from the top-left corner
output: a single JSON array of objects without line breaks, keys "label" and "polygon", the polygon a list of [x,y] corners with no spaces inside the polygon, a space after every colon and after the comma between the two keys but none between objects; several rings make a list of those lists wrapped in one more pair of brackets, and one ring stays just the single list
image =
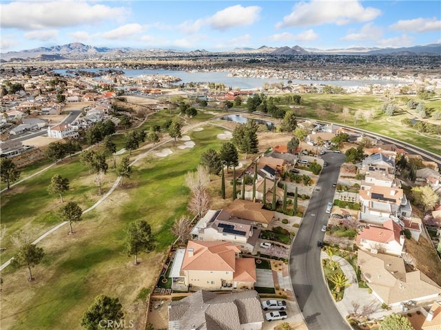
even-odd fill
[{"label": "white house with dark solar panels, directly behind the orange-roofed house", "polygon": [[249,220],[235,218],[225,209],[210,209],[192,230],[192,240],[222,240],[240,245],[243,252],[252,253],[260,229]]}]

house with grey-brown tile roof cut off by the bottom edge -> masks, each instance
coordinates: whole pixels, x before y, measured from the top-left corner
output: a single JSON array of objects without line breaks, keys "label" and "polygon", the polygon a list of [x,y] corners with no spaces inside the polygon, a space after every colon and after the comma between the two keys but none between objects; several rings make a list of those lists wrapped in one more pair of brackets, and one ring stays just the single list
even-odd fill
[{"label": "house with grey-brown tile roof cut off by the bottom edge", "polygon": [[197,291],[192,296],[171,302],[169,330],[260,330],[263,313],[254,290],[236,293]]}]

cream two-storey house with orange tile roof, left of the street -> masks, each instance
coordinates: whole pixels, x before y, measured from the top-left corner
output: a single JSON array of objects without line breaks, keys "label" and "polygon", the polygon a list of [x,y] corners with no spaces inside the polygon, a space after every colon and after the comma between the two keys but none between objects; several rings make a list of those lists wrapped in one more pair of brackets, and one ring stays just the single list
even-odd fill
[{"label": "cream two-storey house with orange tile roof, left of the street", "polygon": [[238,258],[240,248],[230,242],[189,240],[181,266],[184,284],[219,290],[253,289],[254,258]]}]

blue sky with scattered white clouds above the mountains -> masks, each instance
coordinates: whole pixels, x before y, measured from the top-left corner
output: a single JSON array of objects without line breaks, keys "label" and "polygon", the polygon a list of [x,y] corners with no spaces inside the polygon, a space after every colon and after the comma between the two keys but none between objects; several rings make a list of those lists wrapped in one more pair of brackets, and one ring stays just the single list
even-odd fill
[{"label": "blue sky with scattered white clouds above the mountains", "polygon": [[441,43],[441,1],[81,1],[0,3],[0,52],[84,43],[208,50]]}]

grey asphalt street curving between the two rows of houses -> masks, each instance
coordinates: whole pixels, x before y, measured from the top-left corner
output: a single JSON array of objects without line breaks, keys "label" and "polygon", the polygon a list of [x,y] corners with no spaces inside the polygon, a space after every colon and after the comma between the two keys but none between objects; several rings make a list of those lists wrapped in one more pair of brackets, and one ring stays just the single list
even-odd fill
[{"label": "grey asphalt street curving between the two rows of houses", "polygon": [[320,249],[317,241],[325,233],[320,229],[327,224],[329,214],[325,213],[327,203],[334,198],[332,183],[336,183],[345,154],[327,152],[322,158],[328,162],[323,167],[302,224],[291,247],[289,272],[298,306],[309,330],[351,329],[342,318],[322,276]]}]

